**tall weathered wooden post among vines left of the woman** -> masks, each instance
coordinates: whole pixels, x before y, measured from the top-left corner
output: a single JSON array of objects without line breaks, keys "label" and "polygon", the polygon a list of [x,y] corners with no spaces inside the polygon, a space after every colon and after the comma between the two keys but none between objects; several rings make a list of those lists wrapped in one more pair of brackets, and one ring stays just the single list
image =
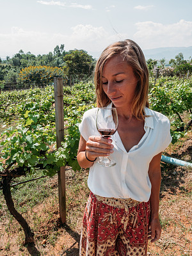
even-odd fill
[{"label": "tall weathered wooden post among vines left of the woman", "polygon": [[[56,144],[61,147],[64,140],[64,113],[63,113],[63,78],[54,78],[54,102],[56,116]],[[66,196],[65,196],[65,166],[58,172],[58,189],[61,223],[66,222]]]}]

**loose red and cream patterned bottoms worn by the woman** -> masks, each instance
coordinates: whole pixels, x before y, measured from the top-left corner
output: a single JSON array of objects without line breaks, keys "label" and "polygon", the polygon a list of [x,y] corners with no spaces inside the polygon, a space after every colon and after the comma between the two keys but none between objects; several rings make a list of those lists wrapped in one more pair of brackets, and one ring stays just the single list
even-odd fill
[{"label": "loose red and cream patterned bottoms worn by the woman", "polygon": [[106,198],[90,192],[79,256],[146,256],[149,218],[149,202]]}]

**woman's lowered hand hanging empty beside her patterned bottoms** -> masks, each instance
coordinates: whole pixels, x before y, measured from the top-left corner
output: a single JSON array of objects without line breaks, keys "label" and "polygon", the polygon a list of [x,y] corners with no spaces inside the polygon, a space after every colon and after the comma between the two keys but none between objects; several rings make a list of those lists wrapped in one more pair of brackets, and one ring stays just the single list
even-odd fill
[{"label": "woman's lowered hand hanging empty beside her patterned bottoms", "polygon": [[151,243],[159,240],[161,236],[161,225],[159,223],[159,218],[151,218],[150,228],[148,230],[148,239],[151,239]]}]

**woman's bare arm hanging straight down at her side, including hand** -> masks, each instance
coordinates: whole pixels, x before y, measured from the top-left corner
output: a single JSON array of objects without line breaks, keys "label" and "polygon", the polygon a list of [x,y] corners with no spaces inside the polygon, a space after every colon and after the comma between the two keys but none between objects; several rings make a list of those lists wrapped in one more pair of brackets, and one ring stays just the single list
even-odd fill
[{"label": "woman's bare arm hanging straight down at her side, including hand", "polygon": [[161,236],[161,225],[159,223],[159,192],[161,186],[161,153],[153,157],[149,164],[148,176],[152,184],[150,195],[150,232],[149,239],[156,242]]}]

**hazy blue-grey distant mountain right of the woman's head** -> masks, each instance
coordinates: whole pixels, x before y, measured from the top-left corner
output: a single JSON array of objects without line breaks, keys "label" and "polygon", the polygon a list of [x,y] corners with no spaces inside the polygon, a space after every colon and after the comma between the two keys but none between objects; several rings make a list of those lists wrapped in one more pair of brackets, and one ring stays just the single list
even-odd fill
[{"label": "hazy blue-grey distant mountain right of the woman's head", "polygon": [[145,54],[145,59],[152,60],[161,60],[165,58],[165,60],[175,59],[175,56],[182,52],[184,56],[184,60],[189,60],[189,57],[192,57],[192,46],[189,47],[161,47],[155,49],[147,49],[143,50]]}]

